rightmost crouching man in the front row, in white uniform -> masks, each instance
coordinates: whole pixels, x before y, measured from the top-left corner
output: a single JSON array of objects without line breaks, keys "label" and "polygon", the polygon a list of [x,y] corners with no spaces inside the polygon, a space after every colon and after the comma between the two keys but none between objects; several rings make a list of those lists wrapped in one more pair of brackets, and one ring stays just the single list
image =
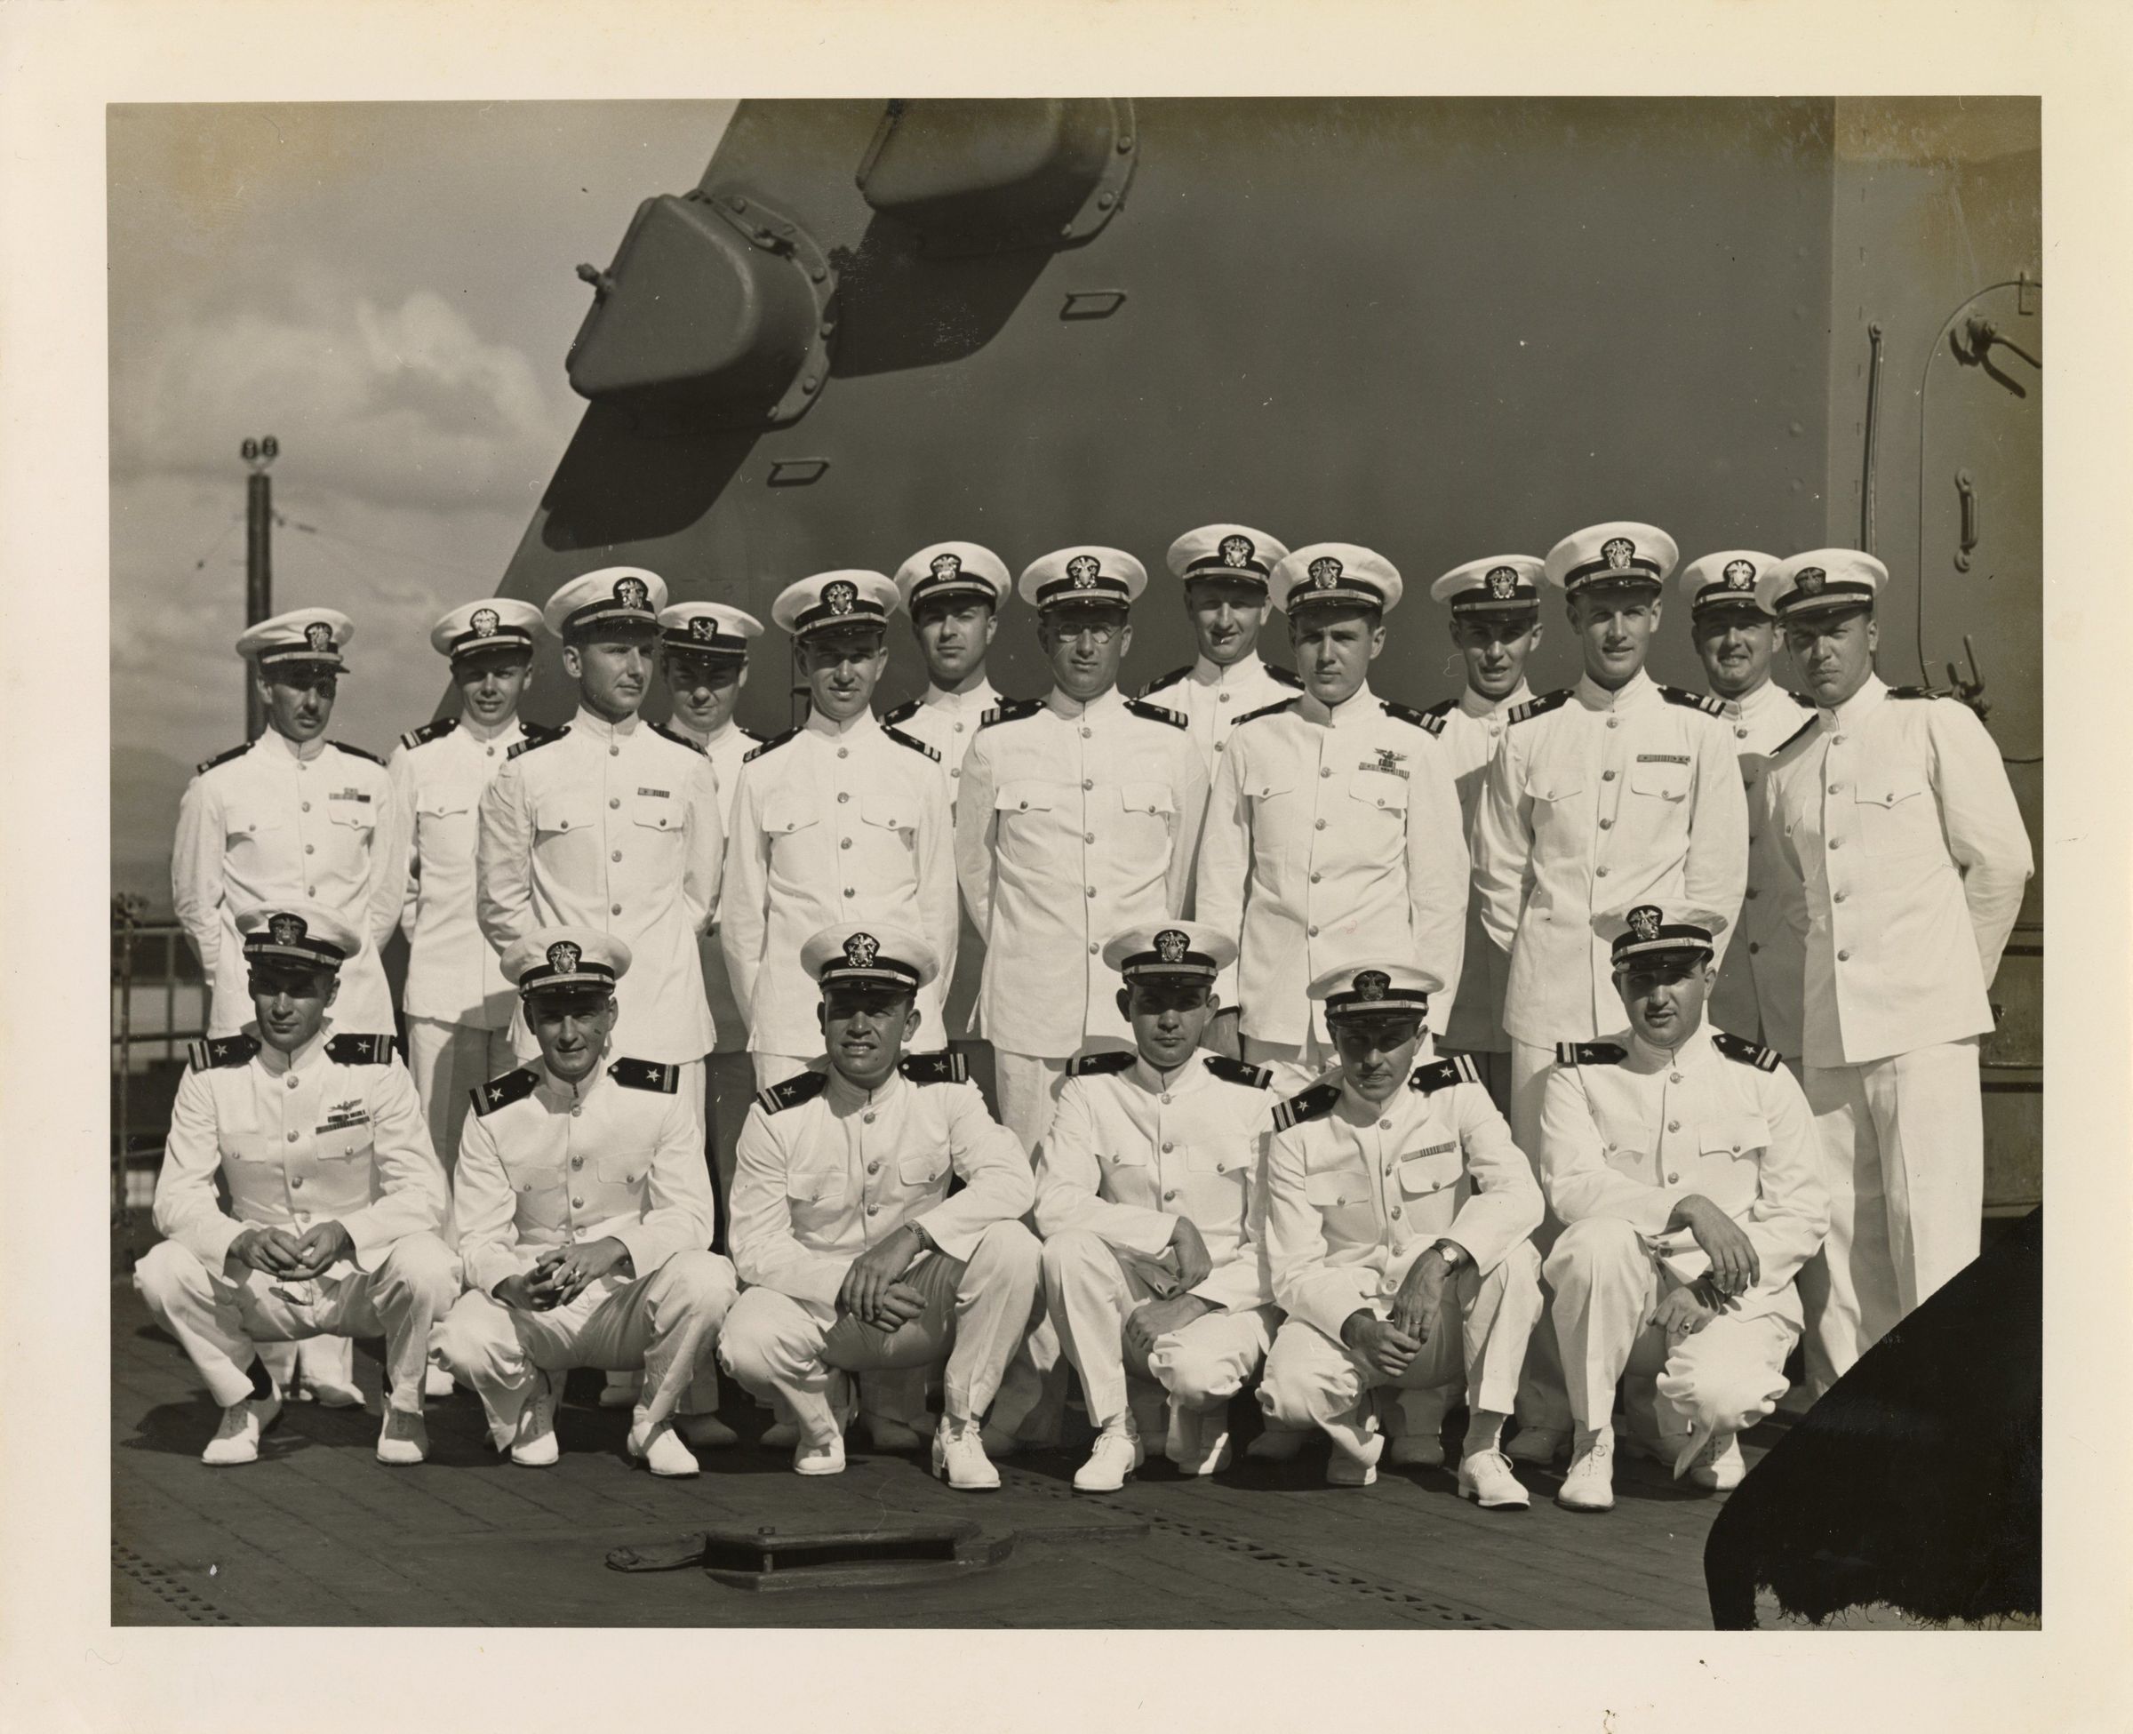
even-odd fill
[{"label": "rightmost crouching man in the front row, in white uniform", "polygon": [[1800,1335],[1794,1275],[1828,1231],[1807,1096],[1775,1049],[1713,1030],[1713,938],[1702,911],[1602,915],[1617,1041],[1563,1043],[1542,1086],[1555,1335],[1576,1418],[1559,1506],[1615,1504],[1615,1384],[1657,1376],[1632,1438],[1698,1487],[1736,1487],[1736,1435],[1785,1395]]}]

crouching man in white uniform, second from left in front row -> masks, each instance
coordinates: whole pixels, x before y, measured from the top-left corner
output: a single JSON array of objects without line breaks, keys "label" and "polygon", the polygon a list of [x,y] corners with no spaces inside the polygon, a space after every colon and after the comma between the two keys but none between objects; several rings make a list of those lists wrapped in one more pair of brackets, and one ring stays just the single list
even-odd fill
[{"label": "crouching man in white uniform, second from left in front row", "polygon": [[474,1092],[454,1207],[467,1293],[439,1333],[514,1463],[557,1459],[572,1367],[644,1369],[627,1448],[693,1476],[712,1414],[710,1344],[734,1267],[710,1252],[704,1133],[680,1066],[608,1060],[629,947],[593,928],[535,928],[503,953],[540,1058]]}]

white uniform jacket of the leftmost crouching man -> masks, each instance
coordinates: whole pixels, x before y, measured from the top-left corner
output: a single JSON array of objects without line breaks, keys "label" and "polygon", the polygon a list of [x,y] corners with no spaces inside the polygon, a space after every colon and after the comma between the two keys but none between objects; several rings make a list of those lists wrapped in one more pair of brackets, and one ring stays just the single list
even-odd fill
[{"label": "white uniform jacket of the leftmost crouching man", "polygon": [[164,1239],[220,1271],[254,1222],[294,1235],[339,1222],[369,1271],[395,1241],[444,1224],[444,1165],[392,1037],[337,1037],[328,1022],[294,1054],[256,1028],[192,1047],[156,1175]]}]

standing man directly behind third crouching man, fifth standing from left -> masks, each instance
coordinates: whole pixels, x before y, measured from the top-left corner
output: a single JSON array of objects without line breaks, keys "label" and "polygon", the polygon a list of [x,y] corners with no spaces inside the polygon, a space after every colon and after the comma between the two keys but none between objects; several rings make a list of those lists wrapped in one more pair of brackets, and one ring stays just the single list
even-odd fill
[{"label": "standing man directly behind third crouching man, fifth standing from left", "polygon": [[[870,708],[896,604],[896,584],[879,572],[821,572],[787,584],[770,608],[800,646],[813,702],[802,727],[740,766],[719,919],[761,1088],[821,1054],[821,990],[800,964],[808,934],[896,917],[917,926],[936,958],[956,956],[956,834],[941,759]],[[934,990],[919,994],[919,1039],[947,1045]]]}]

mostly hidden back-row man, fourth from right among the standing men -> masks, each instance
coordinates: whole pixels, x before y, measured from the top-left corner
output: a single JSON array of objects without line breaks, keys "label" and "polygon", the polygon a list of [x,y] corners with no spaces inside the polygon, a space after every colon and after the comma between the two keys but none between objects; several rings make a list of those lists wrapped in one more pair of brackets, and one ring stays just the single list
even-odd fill
[{"label": "mostly hidden back-row man, fourth from right among the standing men", "polygon": [[[1433,601],[1450,604],[1453,646],[1465,668],[1459,697],[1429,706],[1442,723],[1438,742],[1459,787],[1459,828],[1470,842],[1474,815],[1489,785],[1489,766],[1504,744],[1506,719],[1534,689],[1525,661],[1540,644],[1542,561],[1531,555],[1493,555],[1455,565],[1429,587]],[[1459,992],[1438,1043],[1444,1054],[1470,1054],[1497,1107],[1510,1107],[1510,1037],[1504,1034],[1504,988],[1510,958],[1491,945],[1480,924],[1480,898],[1468,898]]]}]

